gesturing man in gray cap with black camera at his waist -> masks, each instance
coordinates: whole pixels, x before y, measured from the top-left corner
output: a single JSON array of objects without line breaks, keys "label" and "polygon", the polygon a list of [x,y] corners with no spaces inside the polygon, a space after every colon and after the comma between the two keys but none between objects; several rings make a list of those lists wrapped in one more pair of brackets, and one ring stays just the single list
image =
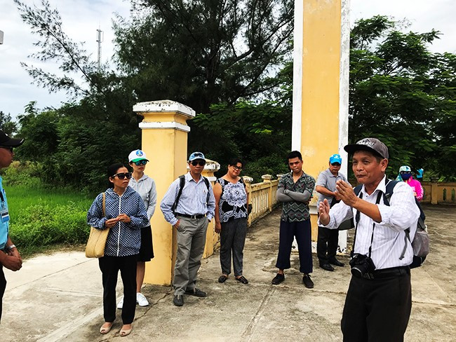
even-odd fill
[{"label": "gesturing man in gray cap with black camera at his waist", "polygon": [[341,322],[344,341],[403,341],[412,308],[409,265],[413,261],[405,230],[410,229],[413,240],[420,210],[412,189],[403,182],[385,200],[389,154],[379,139],[361,139],[344,150],[353,155],[361,191],[356,196],[347,182],[338,180],[336,192],[342,202],[330,209],[328,200],[323,200],[318,207],[319,226],[335,229],[355,218],[352,277]]}]

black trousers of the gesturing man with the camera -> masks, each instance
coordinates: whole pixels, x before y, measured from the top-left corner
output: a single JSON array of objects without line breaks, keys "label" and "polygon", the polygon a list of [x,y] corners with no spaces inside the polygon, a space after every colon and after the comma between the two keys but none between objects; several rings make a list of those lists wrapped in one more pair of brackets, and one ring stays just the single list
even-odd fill
[{"label": "black trousers of the gesturing man with the camera", "polygon": [[344,342],[401,342],[411,310],[410,269],[382,279],[352,276],[340,322]]}]

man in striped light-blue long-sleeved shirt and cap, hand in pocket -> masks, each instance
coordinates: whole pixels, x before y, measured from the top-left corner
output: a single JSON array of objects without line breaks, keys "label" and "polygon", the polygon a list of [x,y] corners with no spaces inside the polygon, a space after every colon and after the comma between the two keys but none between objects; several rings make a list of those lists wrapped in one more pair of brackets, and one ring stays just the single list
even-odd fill
[{"label": "man in striped light-blue long-sleeved shirt and cap, hand in pocket", "polygon": [[180,178],[171,183],[160,209],[163,216],[177,231],[177,255],[174,266],[175,306],[184,305],[184,294],[206,297],[206,292],[195,287],[196,276],[201,266],[206,230],[215,214],[215,197],[212,186],[206,182],[201,172],[206,158],[201,152],[194,152],[188,160],[190,171],[185,174],[185,184],[173,212],[180,189]]}]

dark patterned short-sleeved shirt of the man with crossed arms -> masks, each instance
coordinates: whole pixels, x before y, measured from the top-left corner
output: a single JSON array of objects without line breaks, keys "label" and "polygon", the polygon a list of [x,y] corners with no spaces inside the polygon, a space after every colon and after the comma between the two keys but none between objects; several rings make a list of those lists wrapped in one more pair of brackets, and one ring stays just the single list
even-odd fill
[{"label": "dark patterned short-sleeved shirt of the man with crossed arms", "polygon": [[[293,182],[293,172],[283,175],[279,181],[279,189],[287,189],[299,193],[314,191],[315,179],[303,172],[300,179],[297,179],[296,183]],[[297,222],[310,219],[309,205],[295,200],[291,202],[284,202],[281,214],[282,221]]]}]

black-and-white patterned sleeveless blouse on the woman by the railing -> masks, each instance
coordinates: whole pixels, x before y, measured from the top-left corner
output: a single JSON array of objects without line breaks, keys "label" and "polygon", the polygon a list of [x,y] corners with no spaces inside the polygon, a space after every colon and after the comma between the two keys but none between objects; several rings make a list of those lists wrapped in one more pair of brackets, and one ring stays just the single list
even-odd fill
[{"label": "black-and-white patterned sleeveless blouse on the woman by the railing", "polygon": [[222,196],[220,196],[219,203],[220,222],[224,223],[230,219],[247,217],[246,185],[242,178],[236,183],[223,178],[217,179],[216,182],[222,186]]}]

